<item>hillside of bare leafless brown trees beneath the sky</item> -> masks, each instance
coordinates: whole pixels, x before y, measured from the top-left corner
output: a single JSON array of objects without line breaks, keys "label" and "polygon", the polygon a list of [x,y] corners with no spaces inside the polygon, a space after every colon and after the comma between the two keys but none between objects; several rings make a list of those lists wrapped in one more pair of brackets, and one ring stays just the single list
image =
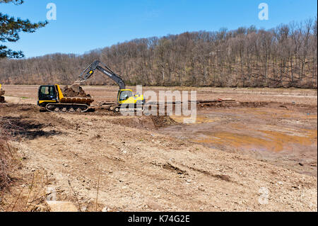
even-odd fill
[{"label": "hillside of bare leafless brown trees beneath the sky", "polygon": [[[4,84],[72,84],[94,60],[128,85],[317,88],[317,17],[270,30],[221,28],[141,38],[84,55],[0,60]],[[113,84],[96,73],[88,84]]]}]

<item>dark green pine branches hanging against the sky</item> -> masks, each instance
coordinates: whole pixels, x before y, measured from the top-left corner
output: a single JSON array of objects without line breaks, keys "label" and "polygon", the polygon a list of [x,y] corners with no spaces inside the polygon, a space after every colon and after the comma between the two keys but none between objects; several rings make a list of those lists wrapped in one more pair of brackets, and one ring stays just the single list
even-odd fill
[{"label": "dark green pine branches hanging against the sky", "polygon": [[[23,0],[0,0],[0,4],[13,3],[15,5],[23,4]],[[39,23],[31,23],[28,19],[21,20],[0,12],[0,42],[15,43],[20,39],[19,33],[34,33],[37,28],[47,25],[47,21]],[[21,58],[24,57],[23,52],[8,49],[6,45],[0,45],[0,58]]]}]

